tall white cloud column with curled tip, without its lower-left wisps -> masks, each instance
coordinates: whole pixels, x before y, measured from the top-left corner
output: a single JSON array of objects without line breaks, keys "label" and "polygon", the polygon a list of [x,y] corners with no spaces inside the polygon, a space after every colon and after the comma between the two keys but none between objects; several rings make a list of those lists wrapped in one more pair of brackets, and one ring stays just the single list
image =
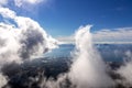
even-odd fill
[{"label": "tall white cloud column with curled tip, without its lower-left wisps", "polygon": [[106,66],[92,45],[91,25],[79,28],[75,34],[75,62],[72,65],[69,77],[77,88],[107,88],[113,81],[106,73]]}]

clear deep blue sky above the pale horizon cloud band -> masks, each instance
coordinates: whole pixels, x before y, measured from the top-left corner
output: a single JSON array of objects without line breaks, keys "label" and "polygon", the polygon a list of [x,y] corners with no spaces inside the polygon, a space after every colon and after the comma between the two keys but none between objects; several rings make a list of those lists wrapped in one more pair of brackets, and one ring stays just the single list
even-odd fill
[{"label": "clear deep blue sky above the pale horizon cloud band", "polygon": [[18,14],[36,20],[53,36],[70,35],[80,25],[94,30],[132,26],[132,0],[48,0],[29,10],[10,8]]}]

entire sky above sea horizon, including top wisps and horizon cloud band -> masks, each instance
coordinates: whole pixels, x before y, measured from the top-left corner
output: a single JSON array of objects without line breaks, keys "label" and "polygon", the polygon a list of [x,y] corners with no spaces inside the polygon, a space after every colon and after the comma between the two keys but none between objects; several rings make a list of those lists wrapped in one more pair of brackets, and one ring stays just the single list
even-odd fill
[{"label": "entire sky above sea horizon, including top wisps and horizon cloud band", "polygon": [[79,26],[91,24],[97,42],[132,42],[132,0],[1,0],[0,3],[18,15],[37,21],[61,41],[73,41]]}]

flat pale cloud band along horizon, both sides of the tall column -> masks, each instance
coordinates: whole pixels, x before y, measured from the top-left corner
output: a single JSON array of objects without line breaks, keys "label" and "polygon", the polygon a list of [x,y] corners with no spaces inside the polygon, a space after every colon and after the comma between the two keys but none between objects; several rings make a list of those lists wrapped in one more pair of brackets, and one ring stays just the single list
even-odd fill
[{"label": "flat pale cloud band along horizon, both sides of the tall column", "polygon": [[[105,29],[92,33],[95,43],[132,43],[132,28]],[[74,35],[56,37],[62,43],[74,43]]]}]

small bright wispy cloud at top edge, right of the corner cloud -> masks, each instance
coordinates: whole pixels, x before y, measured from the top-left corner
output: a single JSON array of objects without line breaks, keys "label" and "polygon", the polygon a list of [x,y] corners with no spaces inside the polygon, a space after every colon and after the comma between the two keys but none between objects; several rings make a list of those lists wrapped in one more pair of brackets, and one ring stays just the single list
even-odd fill
[{"label": "small bright wispy cloud at top edge, right of the corner cloud", "polygon": [[13,0],[13,4],[16,9],[21,9],[24,13],[36,14],[40,11],[40,7],[43,6],[43,9],[51,8],[51,2],[53,0]]}]

